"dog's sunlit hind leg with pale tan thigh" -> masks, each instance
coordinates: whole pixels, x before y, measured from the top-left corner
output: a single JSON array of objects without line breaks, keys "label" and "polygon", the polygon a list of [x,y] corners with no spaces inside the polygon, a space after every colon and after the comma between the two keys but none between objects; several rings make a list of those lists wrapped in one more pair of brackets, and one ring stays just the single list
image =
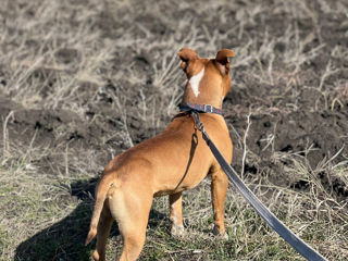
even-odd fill
[{"label": "dog's sunlit hind leg with pale tan thigh", "polygon": [[141,186],[115,190],[109,198],[112,216],[116,220],[123,238],[123,251],[120,261],[136,260],[144,247],[146,228],[152,204],[152,191]]}]

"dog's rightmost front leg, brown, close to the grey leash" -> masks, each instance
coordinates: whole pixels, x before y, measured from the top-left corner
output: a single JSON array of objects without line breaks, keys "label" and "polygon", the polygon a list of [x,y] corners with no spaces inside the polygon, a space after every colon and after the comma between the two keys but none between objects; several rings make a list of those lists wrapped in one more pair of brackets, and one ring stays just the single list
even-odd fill
[{"label": "dog's rightmost front leg, brown, close to the grey leash", "polygon": [[223,170],[219,169],[211,173],[211,198],[214,212],[215,235],[227,238],[225,232],[225,199],[228,188],[228,178]]}]

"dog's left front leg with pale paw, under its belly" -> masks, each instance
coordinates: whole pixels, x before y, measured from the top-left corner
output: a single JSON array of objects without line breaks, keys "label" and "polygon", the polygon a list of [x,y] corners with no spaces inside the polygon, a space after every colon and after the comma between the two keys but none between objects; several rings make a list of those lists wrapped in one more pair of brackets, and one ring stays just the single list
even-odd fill
[{"label": "dog's left front leg with pale paw, under its belly", "polygon": [[183,236],[183,192],[170,195],[170,220],[172,221],[171,233],[173,236]]}]

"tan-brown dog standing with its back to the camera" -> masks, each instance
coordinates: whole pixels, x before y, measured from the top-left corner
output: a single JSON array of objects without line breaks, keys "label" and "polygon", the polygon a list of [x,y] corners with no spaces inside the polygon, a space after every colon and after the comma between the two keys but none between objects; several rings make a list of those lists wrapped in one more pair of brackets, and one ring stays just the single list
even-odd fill
[{"label": "tan-brown dog standing with its back to the camera", "polygon": [[[211,104],[221,109],[231,88],[232,50],[220,50],[215,59],[201,59],[188,48],[178,52],[187,75],[183,104]],[[200,113],[213,142],[232,160],[232,141],[223,116]],[[95,260],[105,260],[105,244],[113,220],[123,237],[120,260],[136,260],[144,247],[153,197],[169,195],[172,234],[184,231],[182,192],[211,176],[214,233],[225,235],[224,202],[228,186],[192,116],[182,112],[163,133],[115,157],[104,169],[96,192],[96,204],[86,245],[97,235]]]}]

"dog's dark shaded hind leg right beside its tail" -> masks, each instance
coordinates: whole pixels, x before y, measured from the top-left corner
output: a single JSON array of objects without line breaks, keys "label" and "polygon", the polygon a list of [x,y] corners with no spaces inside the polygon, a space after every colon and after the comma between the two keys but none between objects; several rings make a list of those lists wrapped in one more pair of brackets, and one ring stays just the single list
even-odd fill
[{"label": "dog's dark shaded hind leg right beside its tail", "polygon": [[97,249],[94,252],[94,259],[96,261],[105,260],[105,245],[110,234],[110,229],[113,223],[113,217],[110,213],[110,210],[104,203],[102,212],[100,214],[100,220],[98,223],[98,234],[97,234]]}]

